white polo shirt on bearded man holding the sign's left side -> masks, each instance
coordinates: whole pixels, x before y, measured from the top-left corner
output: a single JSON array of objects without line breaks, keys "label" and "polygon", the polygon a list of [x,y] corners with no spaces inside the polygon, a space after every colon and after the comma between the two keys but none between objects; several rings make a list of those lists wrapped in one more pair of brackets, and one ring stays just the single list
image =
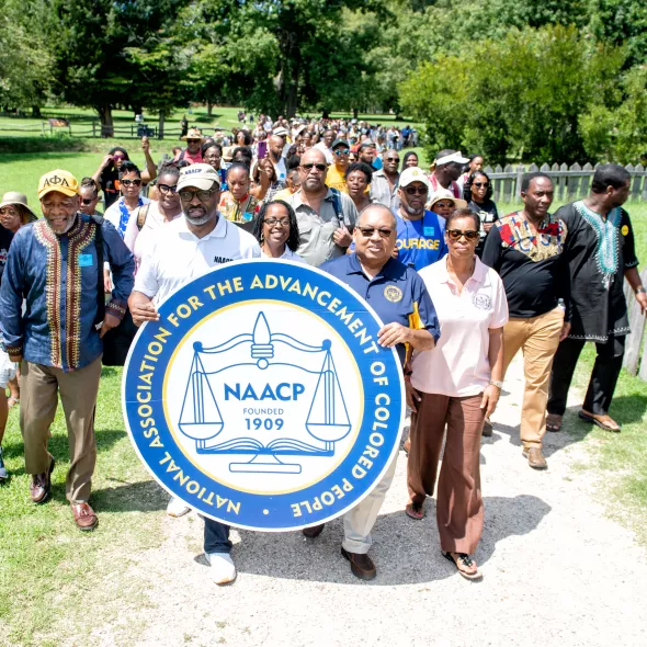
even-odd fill
[{"label": "white polo shirt on bearded man holding the sign's left side", "polygon": [[134,290],[158,304],[217,265],[260,256],[256,238],[222,215],[204,238],[192,234],[181,217],[156,231],[141,259]]}]

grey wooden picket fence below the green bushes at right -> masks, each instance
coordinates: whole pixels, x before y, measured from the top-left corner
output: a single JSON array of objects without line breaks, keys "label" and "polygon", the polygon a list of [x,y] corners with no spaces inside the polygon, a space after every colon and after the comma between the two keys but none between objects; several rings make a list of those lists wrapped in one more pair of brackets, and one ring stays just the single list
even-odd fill
[{"label": "grey wooden picket fence below the green bushes at right", "polygon": [[[518,164],[512,167],[508,164],[506,168],[497,166],[486,167],[484,170],[489,175],[492,182],[495,202],[511,203],[519,200],[521,191],[521,178],[524,173],[533,171],[542,171],[553,179],[555,186],[555,202],[570,202],[586,197],[591,188],[591,180],[595,169],[590,163],[583,167],[577,162],[572,166],[567,164]],[[647,170],[643,164],[627,164],[625,169],[632,175],[632,192],[629,200],[647,202]]]}]

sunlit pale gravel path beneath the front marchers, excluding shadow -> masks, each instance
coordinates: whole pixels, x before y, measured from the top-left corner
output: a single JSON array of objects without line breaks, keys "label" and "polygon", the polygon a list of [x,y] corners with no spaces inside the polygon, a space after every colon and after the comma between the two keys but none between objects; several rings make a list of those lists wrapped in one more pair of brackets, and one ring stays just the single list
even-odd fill
[{"label": "sunlit pale gravel path beneath the front marchers, excluding shadow", "polygon": [[[166,518],[163,545],[135,556],[128,578],[141,604],[101,645],[647,645],[647,559],[595,499],[586,443],[548,434],[547,472],[521,456],[521,367],[513,364],[484,439],[485,531],[475,555],[484,579],[461,578],[440,554],[433,501],[404,514],[406,456],[374,530],[373,582],[340,556],[341,521],[315,541],[300,533],[234,532],[238,579],[216,587],[202,556],[202,522]],[[615,439],[622,442],[622,436]],[[129,628],[132,627],[132,629]],[[124,636],[132,636],[124,643]]]}]

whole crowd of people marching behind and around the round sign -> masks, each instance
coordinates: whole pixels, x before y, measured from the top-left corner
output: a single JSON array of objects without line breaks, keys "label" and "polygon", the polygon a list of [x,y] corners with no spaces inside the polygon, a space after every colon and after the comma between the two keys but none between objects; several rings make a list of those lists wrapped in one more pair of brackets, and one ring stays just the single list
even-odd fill
[{"label": "whole crowd of people marching behind and around the round sign", "polygon": [[[123,363],[134,331],[158,318],[166,296],[213,268],[287,259],[332,274],[383,320],[378,341],[399,354],[411,410],[404,511],[422,519],[435,489],[443,555],[463,577],[481,577],[473,557],[484,525],[480,439],[492,433],[489,418],[514,355],[523,353],[520,436],[531,468],[547,467],[543,439],[561,429],[587,341],[598,356],[579,416],[620,431],[609,409],[629,332],[624,279],[647,308],[623,208],[629,174],[602,164],[588,197],[552,213],[550,177],[527,173],[523,208],[502,216],[479,155],[441,150],[427,170],[415,151],[401,155],[412,136],[405,128],[389,136],[397,129],[355,120],[239,116],[253,129],[232,137],[204,137],[186,124],[185,147],[160,164],[144,138],[145,169],[113,148],[81,181],[60,169],[45,173],[43,218],[24,195],[4,194],[0,385],[11,390],[0,397],[0,481],[9,477],[1,454],[8,408],[20,406],[31,499],[48,499],[49,427],[60,397],[67,498],[78,527],[94,529],[102,359]],[[376,576],[371,531],[394,474],[395,462],[344,515],[341,554],[361,579]],[[189,509],[172,498],[167,512]],[[213,578],[231,582],[229,527],[204,522]],[[314,541],[324,530],[303,533]]]}]

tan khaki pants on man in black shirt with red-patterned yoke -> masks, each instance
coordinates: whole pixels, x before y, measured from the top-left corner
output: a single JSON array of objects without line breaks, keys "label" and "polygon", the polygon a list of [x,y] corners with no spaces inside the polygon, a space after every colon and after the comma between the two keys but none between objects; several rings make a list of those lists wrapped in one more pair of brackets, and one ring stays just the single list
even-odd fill
[{"label": "tan khaki pants on man in black shirt with red-patterned yoke", "polygon": [[519,349],[523,352],[521,442],[525,449],[541,447],[546,433],[550,368],[563,326],[564,310],[555,308],[530,319],[510,319],[503,327],[503,374]]}]

